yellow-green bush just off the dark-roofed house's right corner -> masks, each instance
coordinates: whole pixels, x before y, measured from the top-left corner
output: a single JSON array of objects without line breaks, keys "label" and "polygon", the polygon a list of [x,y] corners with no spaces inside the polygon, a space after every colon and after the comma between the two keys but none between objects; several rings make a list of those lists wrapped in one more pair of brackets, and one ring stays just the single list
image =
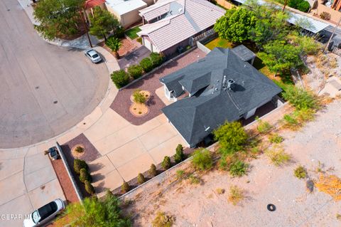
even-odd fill
[{"label": "yellow-green bush just off the dark-roofed house's right corner", "polygon": [[318,109],[318,101],[315,99],[315,96],[301,88],[288,85],[282,95],[283,98],[288,100],[297,110]]}]

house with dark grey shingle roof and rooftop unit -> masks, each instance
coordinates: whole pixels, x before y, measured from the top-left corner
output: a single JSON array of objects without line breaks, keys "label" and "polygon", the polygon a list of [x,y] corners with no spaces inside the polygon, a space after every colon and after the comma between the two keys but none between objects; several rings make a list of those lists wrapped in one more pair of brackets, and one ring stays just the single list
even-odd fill
[{"label": "house with dark grey shingle roof and rooftop unit", "polygon": [[225,121],[251,117],[281,93],[281,88],[247,62],[253,59],[254,53],[245,46],[215,48],[205,58],[160,79],[167,97],[189,95],[162,111],[190,147]]}]

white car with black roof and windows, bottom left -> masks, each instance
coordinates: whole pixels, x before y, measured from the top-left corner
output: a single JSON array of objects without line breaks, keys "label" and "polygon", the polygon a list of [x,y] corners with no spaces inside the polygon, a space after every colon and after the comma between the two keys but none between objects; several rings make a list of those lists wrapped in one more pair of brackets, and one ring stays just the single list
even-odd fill
[{"label": "white car with black roof and windows, bottom left", "polygon": [[43,226],[54,218],[60,211],[65,208],[65,204],[61,199],[55,199],[45,206],[33,211],[27,219],[23,221],[23,227]]}]

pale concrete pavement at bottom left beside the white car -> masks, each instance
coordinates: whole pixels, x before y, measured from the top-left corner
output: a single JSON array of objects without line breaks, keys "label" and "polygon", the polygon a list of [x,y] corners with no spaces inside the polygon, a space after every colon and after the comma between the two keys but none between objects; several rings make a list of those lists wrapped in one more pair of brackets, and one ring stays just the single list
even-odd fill
[{"label": "pale concrete pavement at bottom left beside the white car", "polygon": [[65,200],[43,151],[41,146],[0,150],[0,227],[23,226],[24,215],[54,199]]}]

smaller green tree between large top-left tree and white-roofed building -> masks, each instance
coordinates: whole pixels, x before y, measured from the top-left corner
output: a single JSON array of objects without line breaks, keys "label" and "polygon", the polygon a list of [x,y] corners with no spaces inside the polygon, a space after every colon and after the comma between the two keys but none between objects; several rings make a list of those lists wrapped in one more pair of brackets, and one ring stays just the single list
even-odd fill
[{"label": "smaller green tree between large top-left tree and white-roofed building", "polygon": [[107,41],[107,35],[119,28],[119,20],[109,11],[101,9],[99,6],[94,7],[93,15],[90,14],[90,34],[97,38],[104,38]]}]

